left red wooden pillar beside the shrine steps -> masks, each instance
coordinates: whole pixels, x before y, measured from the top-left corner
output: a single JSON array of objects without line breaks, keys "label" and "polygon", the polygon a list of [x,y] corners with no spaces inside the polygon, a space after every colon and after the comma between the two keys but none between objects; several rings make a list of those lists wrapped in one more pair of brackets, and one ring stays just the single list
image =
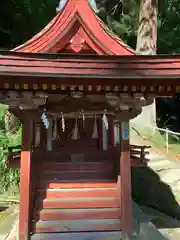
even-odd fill
[{"label": "left red wooden pillar beside the shrine steps", "polygon": [[31,145],[33,139],[33,124],[30,112],[23,112],[22,121],[19,240],[28,240],[31,205]]}]

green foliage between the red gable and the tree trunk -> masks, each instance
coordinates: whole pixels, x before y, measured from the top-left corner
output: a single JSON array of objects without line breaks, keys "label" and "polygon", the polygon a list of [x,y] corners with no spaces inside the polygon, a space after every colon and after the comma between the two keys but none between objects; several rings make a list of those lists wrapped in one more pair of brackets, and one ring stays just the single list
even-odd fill
[{"label": "green foliage between the red gable and the tree trunk", "polygon": [[96,0],[100,18],[124,42],[136,48],[139,0]]}]

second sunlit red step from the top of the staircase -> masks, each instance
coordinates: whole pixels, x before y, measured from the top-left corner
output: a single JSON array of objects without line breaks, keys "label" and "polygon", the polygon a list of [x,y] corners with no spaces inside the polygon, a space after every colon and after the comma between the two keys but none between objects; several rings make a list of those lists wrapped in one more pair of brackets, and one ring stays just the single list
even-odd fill
[{"label": "second sunlit red step from the top of the staircase", "polygon": [[73,189],[40,189],[36,198],[77,198],[77,197],[119,197],[117,188],[73,188]]}]

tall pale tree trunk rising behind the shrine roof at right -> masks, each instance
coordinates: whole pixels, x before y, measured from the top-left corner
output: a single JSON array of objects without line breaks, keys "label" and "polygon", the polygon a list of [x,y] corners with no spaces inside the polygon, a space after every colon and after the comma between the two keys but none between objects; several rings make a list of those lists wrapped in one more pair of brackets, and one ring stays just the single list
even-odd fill
[{"label": "tall pale tree trunk rising behind the shrine roof at right", "polygon": [[[158,0],[141,0],[136,52],[155,55],[157,50]],[[143,107],[142,113],[133,122],[156,125],[156,101]]]}]

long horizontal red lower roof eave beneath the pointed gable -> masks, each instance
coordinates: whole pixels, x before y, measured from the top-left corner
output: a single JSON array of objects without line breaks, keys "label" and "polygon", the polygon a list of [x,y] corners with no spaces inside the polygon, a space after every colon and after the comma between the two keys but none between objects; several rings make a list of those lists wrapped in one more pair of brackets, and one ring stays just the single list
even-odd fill
[{"label": "long horizontal red lower roof eave beneath the pointed gable", "polygon": [[[180,56],[98,56],[42,54],[0,51],[0,76],[36,76],[61,79],[133,79],[141,84],[148,79],[180,77]],[[130,81],[131,82],[131,81]],[[129,83],[130,83],[129,82]],[[172,82],[171,82],[172,83]]]}]

